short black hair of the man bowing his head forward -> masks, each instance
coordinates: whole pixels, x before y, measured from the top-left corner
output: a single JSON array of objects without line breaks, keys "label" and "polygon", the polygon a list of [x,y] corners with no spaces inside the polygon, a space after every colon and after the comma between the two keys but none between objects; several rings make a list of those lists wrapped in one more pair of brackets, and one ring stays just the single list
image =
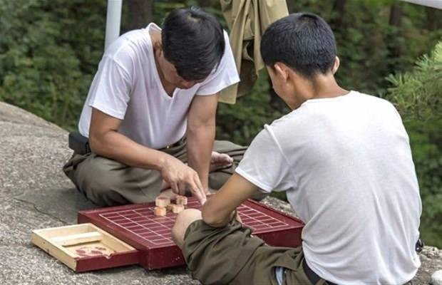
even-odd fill
[{"label": "short black hair of the man bowing his head forward", "polygon": [[225,41],[215,16],[197,8],[176,9],[163,22],[165,58],[185,80],[202,80],[220,63]]}]

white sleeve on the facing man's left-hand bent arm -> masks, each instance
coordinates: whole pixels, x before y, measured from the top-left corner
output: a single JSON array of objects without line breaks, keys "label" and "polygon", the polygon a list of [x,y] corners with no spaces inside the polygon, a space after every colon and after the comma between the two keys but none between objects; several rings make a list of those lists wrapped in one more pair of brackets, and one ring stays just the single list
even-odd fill
[{"label": "white sleeve on the facing man's left-hand bent arm", "polygon": [[93,95],[88,105],[123,120],[130,100],[128,71],[112,58],[104,56],[93,81]]}]

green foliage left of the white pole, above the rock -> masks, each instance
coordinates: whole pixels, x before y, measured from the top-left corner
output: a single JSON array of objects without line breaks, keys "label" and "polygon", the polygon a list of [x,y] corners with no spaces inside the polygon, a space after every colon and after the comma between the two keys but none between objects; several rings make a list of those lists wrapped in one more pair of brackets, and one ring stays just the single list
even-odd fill
[{"label": "green foliage left of the white pole, above the rock", "polygon": [[103,1],[0,1],[0,100],[74,128],[101,53]]}]

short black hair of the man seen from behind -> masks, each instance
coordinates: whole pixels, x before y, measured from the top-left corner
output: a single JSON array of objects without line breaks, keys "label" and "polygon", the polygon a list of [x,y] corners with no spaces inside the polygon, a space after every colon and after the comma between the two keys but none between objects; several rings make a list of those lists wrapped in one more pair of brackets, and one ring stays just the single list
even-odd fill
[{"label": "short black hair of the man seen from behind", "polygon": [[261,56],[267,66],[281,62],[305,78],[312,78],[332,70],[336,41],[332,28],[320,16],[290,14],[264,32]]}]

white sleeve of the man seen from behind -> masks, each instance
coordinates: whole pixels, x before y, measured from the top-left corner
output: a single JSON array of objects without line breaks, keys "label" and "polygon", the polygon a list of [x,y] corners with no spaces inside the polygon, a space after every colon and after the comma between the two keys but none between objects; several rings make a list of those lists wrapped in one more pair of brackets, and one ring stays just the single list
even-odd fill
[{"label": "white sleeve of the man seen from behind", "polygon": [[235,172],[263,192],[289,189],[289,163],[272,132],[272,126],[264,125],[264,130],[252,141]]}]

